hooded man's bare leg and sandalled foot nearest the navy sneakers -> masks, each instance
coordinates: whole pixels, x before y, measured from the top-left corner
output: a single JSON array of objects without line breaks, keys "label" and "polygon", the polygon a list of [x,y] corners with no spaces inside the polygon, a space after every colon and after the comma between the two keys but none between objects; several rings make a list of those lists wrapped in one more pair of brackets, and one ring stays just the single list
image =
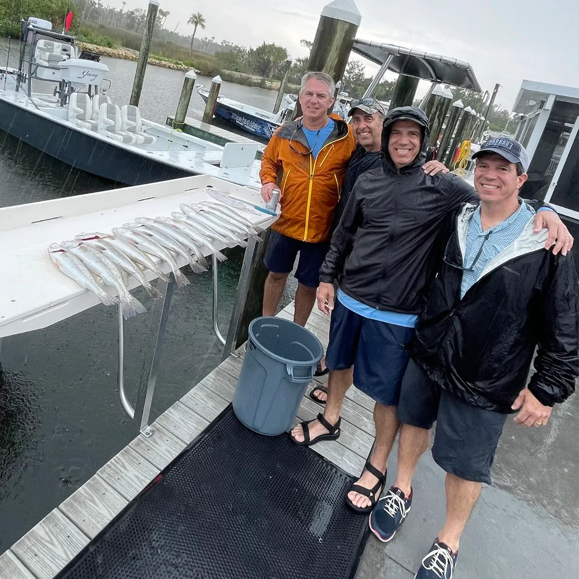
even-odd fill
[{"label": "hooded man's bare leg and sandalled foot nearest the navy sneakers", "polygon": [[[384,406],[376,402],[374,406],[374,424],[376,426],[376,442],[374,443],[370,463],[373,467],[378,468],[380,472],[384,472],[388,464],[390,450],[392,450],[392,445],[398,432],[399,423],[396,419],[396,406]],[[357,485],[367,489],[372,489],[376,483],[378,483],[378,479],[368,471],[364,471],[356,482]],[[372,504],[367,496],[354,490],[348,493],[348,499],[356,507],[360,508],[369,507]]]}]

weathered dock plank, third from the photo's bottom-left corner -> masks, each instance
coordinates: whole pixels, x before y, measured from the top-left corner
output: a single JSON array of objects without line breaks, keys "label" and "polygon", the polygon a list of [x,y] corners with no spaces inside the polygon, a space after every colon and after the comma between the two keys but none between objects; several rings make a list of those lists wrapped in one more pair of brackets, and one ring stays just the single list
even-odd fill
[{"label": "weathered dock plank, third from the photo's bottom-left corner", "polygon": [[94,538],[128,504],[115,489],[101,477],[94,475],[58,509],[85,535]]}]

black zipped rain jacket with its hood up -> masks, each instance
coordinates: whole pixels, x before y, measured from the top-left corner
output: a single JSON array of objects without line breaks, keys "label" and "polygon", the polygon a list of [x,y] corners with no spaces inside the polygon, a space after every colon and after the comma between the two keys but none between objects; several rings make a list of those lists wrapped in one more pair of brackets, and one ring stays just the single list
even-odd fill
[{"label": "black zipped rain jacket with its hood up", "polygon": [[[422,152],[397,169],[388,152],[392,123],[416,120]],[[430,130],[416,107],[393,109],[384,120],[382,167],[360,175],[320,269],[320,281],[336,278],[347,295],[368,306],[419,314],[448,238],[451,217],[475,190],[456,175],[431,177],[422,170]]]}]

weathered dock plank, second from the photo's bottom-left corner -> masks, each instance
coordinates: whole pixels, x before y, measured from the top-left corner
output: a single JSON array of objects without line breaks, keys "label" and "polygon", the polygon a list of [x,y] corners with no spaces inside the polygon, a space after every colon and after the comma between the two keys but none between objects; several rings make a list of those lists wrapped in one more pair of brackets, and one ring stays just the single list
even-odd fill
[{"label": "weathered dock plank, second from the photo's bottom-left corner", "polygon": [[89,537],[54,509],[11,550],[37,579],[52,579],[88,543]]}]

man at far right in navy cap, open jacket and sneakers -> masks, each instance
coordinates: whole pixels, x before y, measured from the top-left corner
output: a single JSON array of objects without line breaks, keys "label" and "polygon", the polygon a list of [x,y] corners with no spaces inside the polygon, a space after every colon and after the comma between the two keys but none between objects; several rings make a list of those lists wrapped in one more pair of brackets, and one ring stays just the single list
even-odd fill
[{"label": "man at far right in navy cap, open jacket and sneakers", "polygon": [[432,453],[446,472],[446,521],[416,579],[452,579],[508,415],[544,426],[579,375],[576,269],[571,254],[545,251],[547,233],[534,231],[534,210],[518,197],[527,152],[496,138],[473,159],[480,201],[453,218],[402,380],[397,480],[370,517],[372,532],[390,541],[411,509],[411,478],[437,422]]}]

